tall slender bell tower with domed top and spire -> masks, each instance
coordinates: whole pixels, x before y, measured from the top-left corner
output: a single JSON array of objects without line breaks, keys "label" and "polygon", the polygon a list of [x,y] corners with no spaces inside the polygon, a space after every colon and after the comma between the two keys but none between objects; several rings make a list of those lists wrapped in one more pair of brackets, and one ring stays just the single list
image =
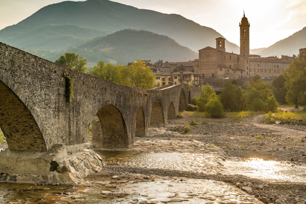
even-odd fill
[{"label": "tall slender bell tower with domed top and spire", "polygon": [[243,12],[243,18],[239,23],[240,27],[240,55],[248,57],[250,54],[250,23],[245,17]]}]

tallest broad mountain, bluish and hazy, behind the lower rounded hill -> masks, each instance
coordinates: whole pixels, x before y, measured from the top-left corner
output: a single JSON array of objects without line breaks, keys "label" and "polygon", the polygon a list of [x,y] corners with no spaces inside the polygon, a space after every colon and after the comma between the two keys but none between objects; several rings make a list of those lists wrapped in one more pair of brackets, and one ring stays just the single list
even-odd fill
[{"label": "tallest broad mountain, bluish and hazy, behind the lower rounded hill", "polygon": [[[88,0],[48,5],[1,30],[0,41],[28,49],[60,50],[67,44],[78,46],[87,38],[123,29],[166,35],[193,50],[215,47],[215,38],[222,37],[215,30],[180,15],[137,9],[107,0]],[[239,47],[230,42],[226,43],[226,49],[239,53]]]}]

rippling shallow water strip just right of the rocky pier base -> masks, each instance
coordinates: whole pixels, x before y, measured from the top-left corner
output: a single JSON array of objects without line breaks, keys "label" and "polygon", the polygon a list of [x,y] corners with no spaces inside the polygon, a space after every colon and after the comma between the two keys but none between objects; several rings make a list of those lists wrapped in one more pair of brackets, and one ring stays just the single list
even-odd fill
[{"label": "rippling shallow water strip just right of the rocky pier base", "polygon": [[138,153],[124,151],[96,151],[108,166],[133,166],[198,172],[206,174],[227,174],[224,162],[215,154],[192,153]]}]

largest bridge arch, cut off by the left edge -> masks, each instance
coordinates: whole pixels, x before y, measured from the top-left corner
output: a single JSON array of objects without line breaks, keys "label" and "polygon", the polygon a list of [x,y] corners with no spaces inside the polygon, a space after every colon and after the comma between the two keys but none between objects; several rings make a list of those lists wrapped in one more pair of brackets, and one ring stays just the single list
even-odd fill
[{"label": "largest bridge arch, cut off by the left edge", "polygon": [[12,151],[47,151],[37,117],[13,83],[0,76],[0,127]]}]

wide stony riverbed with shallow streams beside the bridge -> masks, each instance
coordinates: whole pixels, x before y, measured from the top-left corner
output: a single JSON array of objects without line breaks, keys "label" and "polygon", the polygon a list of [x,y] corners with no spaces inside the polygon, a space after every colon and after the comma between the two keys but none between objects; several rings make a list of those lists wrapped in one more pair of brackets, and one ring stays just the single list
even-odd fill
[{"label": "wide stony riverbed with shallow streams beside the bridge", "polygon": [[[95,150],[107,166],[88,175],[86,185],[0,184],[0,203],[306,203],[306,184],[297,182],[306,172],[292,181],[278,180],[283,174],[269,176],[275,166],[250,171],[243,163],[263,159],[266,165],[303,171],[304,126],[262,124],[263,115],[184,115],[151,127],[148,137],[135,138],[127,151]],[[189,124],[193,119],[198,125]],[[190,132],[185,134],[187,125]],[[90,142],[87,148],[92,148]]]}]

